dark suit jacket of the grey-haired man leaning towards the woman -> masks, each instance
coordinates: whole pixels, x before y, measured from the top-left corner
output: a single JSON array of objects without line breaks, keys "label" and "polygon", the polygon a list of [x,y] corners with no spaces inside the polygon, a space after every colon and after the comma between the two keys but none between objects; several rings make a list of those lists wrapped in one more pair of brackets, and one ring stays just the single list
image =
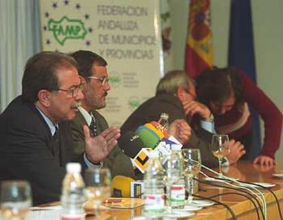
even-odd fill
[{"label": "dark suit jacket of the grey-haired man leaning towards the woman", "polygon": [[[163,112],[169,114],[170,123],[176,119],[187,121],[183,105],[176,96],[159,94],[146,100],[129,116],[121,127],[121,133],[124,134],[129,130],[135,131],[138,126],[152,120],[158,121]],[[217,166],[217,159],[211,152],[211,144],[206,142],[205,139],[198,137],[193,130],[191,130],[191,137],[184,147],[200,149],[202,163],[210,167]]]}]

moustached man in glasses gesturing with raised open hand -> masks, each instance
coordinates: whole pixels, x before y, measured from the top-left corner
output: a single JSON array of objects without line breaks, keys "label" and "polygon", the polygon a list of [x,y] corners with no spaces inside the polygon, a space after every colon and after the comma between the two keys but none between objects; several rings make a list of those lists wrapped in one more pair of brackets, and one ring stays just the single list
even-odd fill
[{"label": "moustached man in glasses gesturing with raised open hand", "polygon": [[[34,204],[59,200],[73,146],[68,120],[83,98],[76,61],[63,53],[38,53],[27,61],[22,85],[22,95],[0,115],[0,180],[28,180]],[[76,161],[99,167],[120,130],[90,137],[83,129],[85,151]]]}]

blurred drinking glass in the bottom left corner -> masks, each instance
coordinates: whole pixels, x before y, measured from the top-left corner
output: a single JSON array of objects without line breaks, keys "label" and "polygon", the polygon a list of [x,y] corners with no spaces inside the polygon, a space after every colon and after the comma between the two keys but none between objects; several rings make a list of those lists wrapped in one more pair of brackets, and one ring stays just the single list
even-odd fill
[{"label": "blurred drinking glass in the bottom left corner", "polygon": [[1,215],[5,220],[24,220],[31,207],[31,187],[24,180],[1,182]]}]

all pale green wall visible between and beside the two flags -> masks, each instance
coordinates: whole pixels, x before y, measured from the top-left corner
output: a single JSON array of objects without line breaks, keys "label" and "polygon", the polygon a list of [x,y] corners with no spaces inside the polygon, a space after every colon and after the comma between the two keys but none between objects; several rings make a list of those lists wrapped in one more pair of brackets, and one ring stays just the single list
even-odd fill
[{"label": "all pale green wall visible between and beside the two flags", "polygon": [[[183,69],[189,0],[170,0],[170,7],[174,68]],[[282,0],[252,0],[258,86],[275,102],[281,112],[283,110],[282,8]],[[211,18],[215,65],[223,67],[227,65],[230,1],[211,0]],[[263,131],[262,122],[261,126]],[[281,140],[276,159],[283,160],[282,146]]]}]

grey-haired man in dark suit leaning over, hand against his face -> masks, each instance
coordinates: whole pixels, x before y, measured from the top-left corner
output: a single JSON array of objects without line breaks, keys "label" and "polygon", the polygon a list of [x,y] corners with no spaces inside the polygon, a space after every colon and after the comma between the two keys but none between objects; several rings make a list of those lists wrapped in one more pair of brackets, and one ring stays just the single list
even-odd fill
[{"label": "grey-haired man in dark suit leaning over, hand against his face", "polygon": [[[202,124],[210,132],[213,132],[213,117],[211,111],[205,105],[196,101],[196,90],[193,81],[187,73],[181,70],[167,72],[157,85],[156,96],[146,100],[136,109],[121,127],[122,135],[129,130],[135,130],[138,126],[150,121],[157,121],[161,113],[169,114],[169,122],[177,119],[191,122],[193,116],[198,115]],[[201,136],[200,136],[201,135]],[[202,163],[210,167],[217,166],[217,159],[211,152],[211,133],[198,128],[198,135],[191,129],[189,141],[185,148],[199,148]],[[230,141],[231,153],[227,156],[230,163],[235,163],[242,154],[243,146],[239,142]]]}]

